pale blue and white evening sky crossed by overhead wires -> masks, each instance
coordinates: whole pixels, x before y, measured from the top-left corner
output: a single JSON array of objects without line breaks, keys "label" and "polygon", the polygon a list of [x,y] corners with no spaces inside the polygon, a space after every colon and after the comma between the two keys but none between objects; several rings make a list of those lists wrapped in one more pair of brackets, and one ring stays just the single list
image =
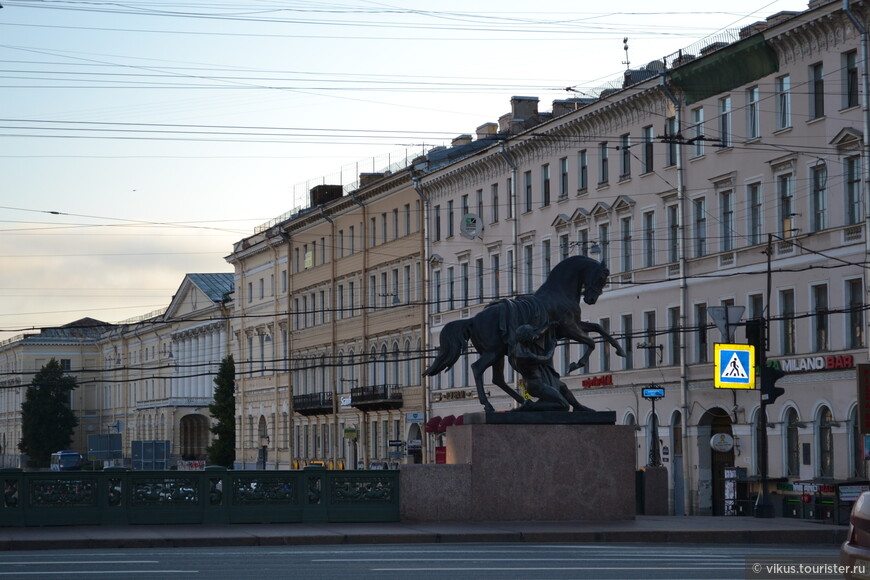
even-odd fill
[{"label": "pale blue and white evening sky crossed by overhead wires", "polygon": [[0,4],[0,340],[165,308],[185,274],[232,272],[233,243],[314,185],[473,135],[511,96],[550,110],[627,66],[807,7]]}]

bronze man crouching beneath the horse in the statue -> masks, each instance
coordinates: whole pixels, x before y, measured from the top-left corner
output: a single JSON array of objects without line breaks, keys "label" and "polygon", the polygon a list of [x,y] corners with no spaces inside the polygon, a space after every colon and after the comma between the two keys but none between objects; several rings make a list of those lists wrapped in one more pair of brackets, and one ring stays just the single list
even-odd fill
[{"label": "bronze man crouching beneath the horse in the statue", "polygon": [[517,327],[509,362],[526,384],[526,392],[535,401],[526,401],[516,411],[592,411],[581,405],[568,386],[553,368],[553,353],[556,350],[556,335],[549,323],[540,329],[530,324]]}]

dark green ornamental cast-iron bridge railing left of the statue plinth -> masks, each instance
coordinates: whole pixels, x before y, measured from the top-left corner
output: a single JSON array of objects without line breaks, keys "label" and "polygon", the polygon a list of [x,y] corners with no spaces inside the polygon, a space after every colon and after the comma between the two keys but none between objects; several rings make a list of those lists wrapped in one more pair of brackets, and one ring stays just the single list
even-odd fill
[{"label": "dark green ornamental cast-iron bridge railing left of the statue plinth", "polygon": [[0,470],[0,526],[399,521],[399,472]]}]

